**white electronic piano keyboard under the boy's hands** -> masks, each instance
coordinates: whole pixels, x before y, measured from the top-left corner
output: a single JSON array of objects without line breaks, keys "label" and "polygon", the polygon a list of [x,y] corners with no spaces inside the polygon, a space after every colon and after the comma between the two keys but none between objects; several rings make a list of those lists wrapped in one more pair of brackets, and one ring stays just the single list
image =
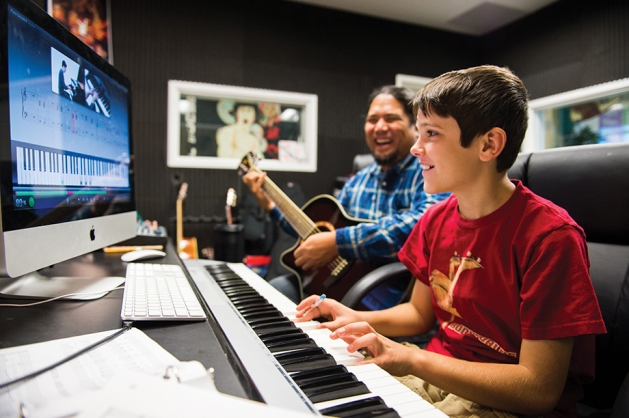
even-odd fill
[{"label": "white electronic piano keyboard under the boy's hands", "polygon": [[244,264],[184,263],[267,404],[315,415],[445,417],[380,367],[356,366],[362,355],[317,322],[293,323],[295,304]]}]

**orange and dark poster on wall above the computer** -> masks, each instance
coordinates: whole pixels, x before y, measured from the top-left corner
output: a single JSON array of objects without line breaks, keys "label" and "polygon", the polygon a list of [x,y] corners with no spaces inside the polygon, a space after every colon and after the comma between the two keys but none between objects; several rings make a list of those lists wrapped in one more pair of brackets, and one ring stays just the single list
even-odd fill
[{"label": "orange and dark poster on wall above the computer", "polygon": [[110,64],[114,63],[109,0],[48,0],[48,14]]}]

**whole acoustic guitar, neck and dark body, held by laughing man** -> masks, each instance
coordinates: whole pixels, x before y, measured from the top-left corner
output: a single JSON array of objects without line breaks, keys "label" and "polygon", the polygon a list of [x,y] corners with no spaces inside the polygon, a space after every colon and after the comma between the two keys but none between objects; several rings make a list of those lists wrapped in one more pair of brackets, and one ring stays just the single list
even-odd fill
[{"label": "whole acoustic guitar, neck and dark body, held by laughing man", "polygon": [[[241,161],[238,172],[242,176],[249,171],[261,172],[256,167],[256,157],[249,153]],[[299,208],[270,178],[266,176],[262,189],[269,195],[288,223],[299,235],[293,247],[282,253],[280,262],[295,273],[305,294],[321,294],[341,300],[358,279],[381,264],[368,264],[359,260],[346,260],[337,256],[327,266],[318,270],[305,271],[295,264],[294,252],[302,240],[311,235],[334,231],[337,228],[354,226],[372,221],[353,218],[345,212],[338,201],[330,195],[319,195]]]}]

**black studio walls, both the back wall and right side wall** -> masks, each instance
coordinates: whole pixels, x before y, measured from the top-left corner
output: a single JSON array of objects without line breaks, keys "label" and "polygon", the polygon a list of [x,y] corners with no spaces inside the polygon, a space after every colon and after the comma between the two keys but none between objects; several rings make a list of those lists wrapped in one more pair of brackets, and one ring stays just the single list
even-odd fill
[{"label": "black studio walls, both the back wall and right side wall", "polygon": [[367,151],[365,99],[397,73],[506,65],[531,98],[629,76],[624,0],[561,0],[481,38],[281,0],[110,1],[115,65],[133,85],[138,210],[169,227],[182,180],[190,185],[185,215],[221,216],[227,189],[242,191],[236,167],[166,167],[169,79],[317,94],[318,171],[270,173],[310,198],[330,193]]}]

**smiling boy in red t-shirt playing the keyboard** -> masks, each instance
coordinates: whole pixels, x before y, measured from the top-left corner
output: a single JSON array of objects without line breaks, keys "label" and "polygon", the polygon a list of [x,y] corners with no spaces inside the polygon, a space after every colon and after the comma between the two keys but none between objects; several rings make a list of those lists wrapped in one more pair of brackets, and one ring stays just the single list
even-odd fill
[{"label": "smiling boy in red t-shirt playing the keyboard", "polygon": [[[452,192],[419,220],[399,258],[417,278],[411,300],[358,312],[318,296],[300,320],[365,349],[450,416],[576,416],[604,333],[585,234],[568,213],[509,180],[527,127],[527,92],[494,66],[434,79],[413,101],[411,149],[426,193]],[[390,337],[435,333],[425,350]],[[409,375],[409,376],[407,376]]]}]

